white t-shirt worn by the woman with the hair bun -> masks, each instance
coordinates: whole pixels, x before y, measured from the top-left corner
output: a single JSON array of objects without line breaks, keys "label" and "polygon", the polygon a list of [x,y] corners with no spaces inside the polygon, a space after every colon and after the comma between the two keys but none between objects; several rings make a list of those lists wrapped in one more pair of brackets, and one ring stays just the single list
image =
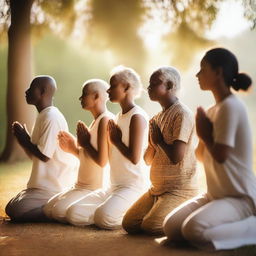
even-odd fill
[{"label": "white t-shirt worn by the woman with the hair bun", "polygon": [[231,147],[224,163],[204,150],[208,193],[214,198],[247,196],[256,206],[256,178],[252,171],[252,136],[244,104],[230,95],[207,111],[216,143]]}]

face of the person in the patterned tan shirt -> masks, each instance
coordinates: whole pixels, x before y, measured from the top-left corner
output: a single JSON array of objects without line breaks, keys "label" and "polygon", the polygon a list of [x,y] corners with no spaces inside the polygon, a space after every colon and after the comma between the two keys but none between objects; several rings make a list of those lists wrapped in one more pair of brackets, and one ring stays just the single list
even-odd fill
[{"label": "face of the person in the patterned tan shirt", "polygon": [[151,75],[147,90],[149,98],[153,101],[158,101],[159,97],[166,92],[166,86],[164,85],[160,74],[156,72]]}]

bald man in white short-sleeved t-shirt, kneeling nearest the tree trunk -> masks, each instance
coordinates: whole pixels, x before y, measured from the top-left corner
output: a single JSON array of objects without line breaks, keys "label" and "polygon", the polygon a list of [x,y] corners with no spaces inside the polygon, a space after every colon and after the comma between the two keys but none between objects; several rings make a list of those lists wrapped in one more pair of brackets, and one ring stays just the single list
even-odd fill
[{"label": "bald man in white short-sleeved t-shirt, kneeling nearest the tree trunk", "polygon": [[53,106],[56,89],[52,77],[34,78],[26,91],[27,103],[34,105],[39,113],[33,133],[30,136],[26,126],[17,121],[12,125],[15,137],[33,162],[27,189],[6,206],[5,211],[12,221],[47,221],[42,207],[74,181],[74,157],[62,151],[57,141],[58,133],[68,131],[68,125],[61,112]]}]

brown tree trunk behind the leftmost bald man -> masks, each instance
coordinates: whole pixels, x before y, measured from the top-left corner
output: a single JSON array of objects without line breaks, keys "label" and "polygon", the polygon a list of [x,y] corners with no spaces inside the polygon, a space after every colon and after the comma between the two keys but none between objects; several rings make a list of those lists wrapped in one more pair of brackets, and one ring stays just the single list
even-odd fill
[{"label": "brown tree trunk behind the leftmost bald man", "polygon": [[25,100],[25,90],[32,78],[30,13],[34,0],[10,0],[11,25],[8,30],[7,137],[1,161],[26,158],[12,134],[14,121],[26,123],[31,131],[35,117]]}]

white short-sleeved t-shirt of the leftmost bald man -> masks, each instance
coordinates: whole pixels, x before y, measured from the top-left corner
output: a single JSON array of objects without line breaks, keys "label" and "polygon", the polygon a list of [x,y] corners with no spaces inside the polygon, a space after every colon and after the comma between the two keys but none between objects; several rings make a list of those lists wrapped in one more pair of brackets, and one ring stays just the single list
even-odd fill
[{"label": "white short-sleeved t-shirt of the leftmost bald man", "polygon": [[68,131],[62,113],[53,106],[43,109],[37,116],[31,142],[50,159],[43,162],[35,156],[32,157],[32,173],[28,188],[59,192],[74,183],[77,161],[74,156],[60,148],[57,138],[60,131]]}]

